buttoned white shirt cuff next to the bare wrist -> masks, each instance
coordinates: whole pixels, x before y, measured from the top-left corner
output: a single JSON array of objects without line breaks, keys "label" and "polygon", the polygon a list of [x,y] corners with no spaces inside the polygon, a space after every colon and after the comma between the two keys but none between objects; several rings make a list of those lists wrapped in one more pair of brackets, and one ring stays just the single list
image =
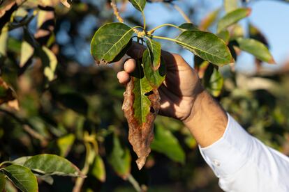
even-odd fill
[{"label": "buttoned white shirt cuff next to the bare wrist", "polygon": [[251,154],[253,139],[229,114],[223,136],[200,153],[217,177],[227,177],[237,172]]}]

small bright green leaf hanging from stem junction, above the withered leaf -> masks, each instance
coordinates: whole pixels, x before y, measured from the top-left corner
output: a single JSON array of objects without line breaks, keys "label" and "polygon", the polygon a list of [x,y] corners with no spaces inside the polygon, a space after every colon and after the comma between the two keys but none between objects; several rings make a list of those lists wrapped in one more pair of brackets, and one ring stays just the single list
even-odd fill
[{"label": "small bright green leaf hanging from stem junction, above the withered leaf", "polygon": [[148,39],[146,41],[147,47],[149,48],[149,55],[151,57],[151,67],[153,70],[158,70],[161,65],[161,43]]}]

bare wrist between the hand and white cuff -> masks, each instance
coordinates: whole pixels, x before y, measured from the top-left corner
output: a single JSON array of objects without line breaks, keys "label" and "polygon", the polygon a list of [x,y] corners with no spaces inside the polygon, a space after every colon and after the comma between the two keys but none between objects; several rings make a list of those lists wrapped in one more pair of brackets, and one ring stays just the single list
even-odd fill
[{"label": "bare wrist between the hand and white cuff", "polygon": [[184,124],[198,144],[207,147],[223,136],[228,117],[222,107],[204,90],[196,97],[191,115],[184,120]]}]

